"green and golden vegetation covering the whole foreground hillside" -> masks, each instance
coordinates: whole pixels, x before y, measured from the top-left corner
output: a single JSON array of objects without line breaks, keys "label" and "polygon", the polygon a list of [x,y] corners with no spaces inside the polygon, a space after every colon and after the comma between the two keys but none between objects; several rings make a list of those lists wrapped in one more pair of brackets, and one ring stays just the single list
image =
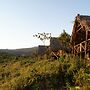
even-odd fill
[{"label": "green and golden vegetation covering the whole foreground hillside", "polygon": [[0,63],[0,90],[58,90],[73,86],[88,90],[90,68],[76,59],[71,55],[66,55],[64,61],[8,57],[8,62]]}]

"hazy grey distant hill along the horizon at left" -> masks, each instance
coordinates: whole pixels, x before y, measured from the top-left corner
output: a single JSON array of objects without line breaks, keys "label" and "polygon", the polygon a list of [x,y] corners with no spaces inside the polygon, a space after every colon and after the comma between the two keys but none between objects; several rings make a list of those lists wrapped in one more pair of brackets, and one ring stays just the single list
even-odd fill
[{"label": "hazy grey distant hill along the horizon at left", "polygon": [[0,49],[0,52],[5,52],[13,55],[20,56],[32,56],[33,54],[37,54],[38,47],[32,48],[21,48],[21,49]]}]

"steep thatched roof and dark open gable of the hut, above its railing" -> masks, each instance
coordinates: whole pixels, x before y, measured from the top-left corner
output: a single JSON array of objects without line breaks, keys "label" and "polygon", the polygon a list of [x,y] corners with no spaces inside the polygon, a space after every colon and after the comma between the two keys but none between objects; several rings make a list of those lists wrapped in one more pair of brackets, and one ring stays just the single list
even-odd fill
[{"label": "steep thatched roof and dark open gable of the hut, above its railing", "polygon": [[[86,30],[90,30],[90,16],[77,15],[72,30],[72,43],[78,44],[86,38]],[[90,33],[88,35],[90,38]]]}]

